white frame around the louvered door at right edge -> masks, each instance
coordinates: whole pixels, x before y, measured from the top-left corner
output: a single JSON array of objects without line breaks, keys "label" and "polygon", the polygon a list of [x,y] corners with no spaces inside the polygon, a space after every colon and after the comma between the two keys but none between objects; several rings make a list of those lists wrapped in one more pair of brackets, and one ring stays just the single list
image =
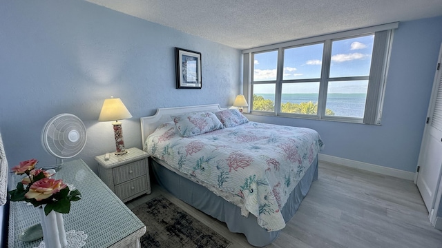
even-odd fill
[{"label": "white frame around the louvered door at right edge", "polygon": [[[437,97],[437,93],[439,90],[439,83],[442,83],[442,81],[440,81],[439,79],[439,72],[442,73],[442,68],[440,67],[439,64],[441,64],[442,62],[442,43],[441,43],[441,48],[439,49],[439,56],[437,57],[437,63],[436,63],[436,72],[434,72],[434,79],[433,79],[433,87],[432,87],[432,93],[431,93],[431,97],[430,97],[430,104],[428,105],[428,110],[427,110],[427,118],[431,118],[432,116],[432,110],[434,110],[434,105],[436,104],[436,97]],[[431,122],[431,119],[430,119]],[[414,174],[414,180],[413,183],[416,185],[417,184],[417,178],[419,177],[419,172],[417,172],[417,167],[419,165],[421,165],[422,163],[422,155],[423,154],[423,143],[425,141],[425,138],[427,137],[427,132],[428,132],[428,126],[429,123],[425,124],[425,128],[423,130],[423,136],[422,136],[422,141],[421,141],[421,149],[419,150],[419,159],[418,159],[418,164],[416,165],[416,173]],[[433,199],[433,203],[432,203],[432,208],[430,213],[428,214],[428,218],[430,219],[430,223],[432,223],[433,227],[436,225],[436,217],[437,217],[437,212],[439,211],[439,203],[441,203],[441,198],[442,198],[442,171],[441,174],[439,174],[439,186],[436,187],[436,198]]]}]

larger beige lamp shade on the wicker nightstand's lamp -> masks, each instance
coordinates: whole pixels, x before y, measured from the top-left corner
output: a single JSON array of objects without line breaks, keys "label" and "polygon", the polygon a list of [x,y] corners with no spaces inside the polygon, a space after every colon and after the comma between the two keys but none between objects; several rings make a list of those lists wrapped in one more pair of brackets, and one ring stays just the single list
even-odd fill
[{"label": "larger beige lamp shade on the wicker nightstand's lamp", "polygon": [[102,112],[99,113],[98,121],[118,121],[131,118],[132,114],[127,110],[121,99],[105,99]]}]

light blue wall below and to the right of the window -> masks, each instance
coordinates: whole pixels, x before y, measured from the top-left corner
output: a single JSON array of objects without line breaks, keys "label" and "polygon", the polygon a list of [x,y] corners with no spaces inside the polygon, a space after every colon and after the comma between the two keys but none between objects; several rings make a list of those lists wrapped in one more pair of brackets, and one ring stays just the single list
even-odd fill
[{"label": "light blue wall below and to the right of the window", "polygon": [[394,31],[382,125],[247,115],[252,121],[311,127],[323,154],[414,172],[442,42],[442,17],[408,21]]}]

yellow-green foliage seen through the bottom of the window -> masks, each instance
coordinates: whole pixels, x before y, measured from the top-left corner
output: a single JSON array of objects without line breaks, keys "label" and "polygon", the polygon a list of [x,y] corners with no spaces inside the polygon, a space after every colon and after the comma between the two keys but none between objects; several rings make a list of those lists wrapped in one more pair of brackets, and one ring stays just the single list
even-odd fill
[{"label": "yellow-green foliage seen through the bottom of the window", "polygon": [[[253,110],[259,111],[275,111],[275,103],[269,99],[264,99],[262,96],[253,94]],[[294,114],[317,114],[318,103],[311,101],[304,103],[282,103],[281,112]],[[325,110],[325,114],[334,115],[330,109]]]}]

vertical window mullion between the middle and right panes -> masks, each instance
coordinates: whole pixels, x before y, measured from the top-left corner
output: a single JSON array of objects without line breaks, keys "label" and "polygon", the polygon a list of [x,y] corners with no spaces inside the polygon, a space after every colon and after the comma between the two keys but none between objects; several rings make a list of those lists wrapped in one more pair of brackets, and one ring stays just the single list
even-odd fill
[{"label": "vertical window mullion between the middle and right panes", "polygon": [[325,104],[327,101],[327,87],[330,72],[330,63],[332,61],[332,41],[324,42],[323,67],[320,74],[319,98],[318,98],[318,117],[322,119],[325,116]]}]

